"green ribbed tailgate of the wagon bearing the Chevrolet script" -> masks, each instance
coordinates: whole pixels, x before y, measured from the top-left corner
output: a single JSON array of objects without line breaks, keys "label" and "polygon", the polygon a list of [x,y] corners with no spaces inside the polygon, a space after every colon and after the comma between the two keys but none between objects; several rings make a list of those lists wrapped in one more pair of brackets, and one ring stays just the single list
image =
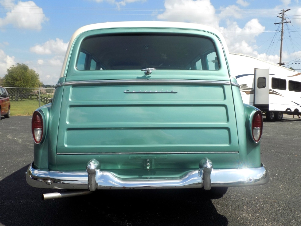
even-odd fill
[{"label": "green ribbed tailgate of the wagon bearing the Chevrolet script", "polygon": [[140,169],[146,158],[153,168],[196,168],[203,157],[237,166],[229,81],[133,81],[65,85],[58,169],[85,167],[92,157],[102,169]]}]

